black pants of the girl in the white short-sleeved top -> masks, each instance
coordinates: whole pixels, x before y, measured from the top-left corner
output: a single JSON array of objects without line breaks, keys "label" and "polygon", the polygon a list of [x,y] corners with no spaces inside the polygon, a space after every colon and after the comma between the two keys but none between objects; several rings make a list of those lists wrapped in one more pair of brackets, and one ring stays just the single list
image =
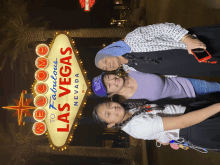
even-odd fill
[{"label": "black pants of the girl in the white short-sleeved top", "polygon": [[[212,104],[214,103],[206,101],[196,102],[188,106],[185,113],[199,110]],[[220,151],[220,113],[211,116],[201,123],[181,129],[180,137],[194,145],[207,149],[219,149]]]}]

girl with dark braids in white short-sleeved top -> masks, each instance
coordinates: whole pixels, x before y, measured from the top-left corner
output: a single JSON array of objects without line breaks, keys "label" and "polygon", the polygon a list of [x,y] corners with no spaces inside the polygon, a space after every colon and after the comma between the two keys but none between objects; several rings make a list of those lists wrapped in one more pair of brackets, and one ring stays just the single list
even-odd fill
[{"label": "girl with dark braids in white short-sleeved top", "polygon": [[129,110],[129,106],[117,102],[104,102],[94,108],[93,117],[99,124],[119,127],[137,139],[157,140],[166,145],[185,138],[194,145],[219,150],[220,103],[199,103],[190,108],[136,104]]}]

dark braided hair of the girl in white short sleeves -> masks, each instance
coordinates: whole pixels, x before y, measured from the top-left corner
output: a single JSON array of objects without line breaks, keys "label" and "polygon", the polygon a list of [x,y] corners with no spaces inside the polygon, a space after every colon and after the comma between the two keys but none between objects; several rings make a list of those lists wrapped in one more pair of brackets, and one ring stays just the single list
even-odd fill
[{"label": "dark braided hair of the girl in white short sleeves", "polygon": [[[103,121],[102,119],[99,118],[98,116],[98,113],[97,113],[97,110],[98,108],[104,104],[106,102],[103,102],[103,103],[100,103],[98,104],[97,106],[95,106],[94,110],[93,110],[93,118],[94,120],[100,124],[101,126],[103,127],[107,127],[108,123],[106,123],[105,121]],[[120,104],[120,103],[119,103]],[[121,104],[121,106],[125,109],[125,111],[128,111],[130,109],[133,109],[133,108],[139,108],[139,110],[137,112],[135,112],[130,118],[126,119],[125,121],[119,123],[119,124],[116,124],[113,128],[116,128],[116,127],[123,127],[124,125],[126,125],[134,116],[137,116],[141,113],[144,113],[144,112],[148,112],[148,111],[151,111],[151,110],[164,110],[164,106],[163,105],[157,105],[155,107],[150,107],[150,108],[147,108],[147,107],[143,107],[143,105],[146,105],[146,102],[128,102],[128,103],[123,103]]]}]

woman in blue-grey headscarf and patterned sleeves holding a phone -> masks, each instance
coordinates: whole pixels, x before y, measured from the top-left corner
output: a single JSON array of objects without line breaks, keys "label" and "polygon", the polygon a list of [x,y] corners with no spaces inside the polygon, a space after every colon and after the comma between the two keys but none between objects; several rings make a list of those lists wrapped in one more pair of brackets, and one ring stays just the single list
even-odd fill
[{"label": "woman in blue-grey headscarf and patterned sleeves holding a phone", "polygon": [[220,76],[218,65],[199,63],[189,55],[195,48],[207,48],[217,57],[220,53],[220,26],[198,27],[190,31],[173,23],[138,27],[128,33],[124,41],[100,50],[95,65],[105,71],[123,66],[125,71],[161,75]]}]

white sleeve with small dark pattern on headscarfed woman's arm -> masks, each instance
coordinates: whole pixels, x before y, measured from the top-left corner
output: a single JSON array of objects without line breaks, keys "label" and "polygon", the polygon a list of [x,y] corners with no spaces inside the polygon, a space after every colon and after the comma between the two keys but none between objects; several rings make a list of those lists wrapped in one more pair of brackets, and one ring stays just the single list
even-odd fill
[{"label": "white sleeve with small dark pattern on headscarfed woman's arm", "polygon": [[183,36],[188,33],[188,30],[182,28],[180,25],[173,23],[154,24],[149,26],[143,26],[136,28],[125,37],[125,42],[129,43],[129,40],[152,40],[154,38],[169,38],[179,42]]}]

